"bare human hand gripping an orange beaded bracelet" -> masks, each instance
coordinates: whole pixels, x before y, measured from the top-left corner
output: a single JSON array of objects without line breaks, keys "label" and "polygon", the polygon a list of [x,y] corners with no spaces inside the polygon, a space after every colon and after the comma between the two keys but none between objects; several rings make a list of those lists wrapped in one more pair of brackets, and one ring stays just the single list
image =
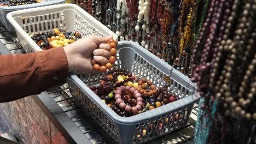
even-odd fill
[{"label": "bare human hand gripping an orange beaded bracelet", "polygon": [[78,71],[79,73],[95,73],[92,68],[91,59],[101,65],[106,65],[110,57],[110,47],[107,41],[113,39],[108,37],[86,37],[65,46],[68,60],[68,71]]}]

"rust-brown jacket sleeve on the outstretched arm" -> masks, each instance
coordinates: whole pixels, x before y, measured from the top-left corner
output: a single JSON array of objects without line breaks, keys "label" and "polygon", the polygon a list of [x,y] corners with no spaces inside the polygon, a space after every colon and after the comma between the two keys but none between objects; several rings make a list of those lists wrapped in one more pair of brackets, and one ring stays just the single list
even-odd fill
[{"label": "rust-brown jacket sleeve on the outstretched arm", "polygon": [[0,103],[38,94],[66,82],[68,62],[63,47],[0,55]]}]

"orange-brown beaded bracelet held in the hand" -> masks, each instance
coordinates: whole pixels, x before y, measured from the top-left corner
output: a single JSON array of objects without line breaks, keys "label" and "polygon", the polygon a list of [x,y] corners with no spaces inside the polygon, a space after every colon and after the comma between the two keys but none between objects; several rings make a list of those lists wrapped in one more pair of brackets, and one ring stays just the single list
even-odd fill
[{"label": "orange-brown beaded bracelet held in the hand", "polygon": [[110,57],[108,59],[109,63],[107,63],[106,65],[100,65],[98,64],[94,59],[91,60],[91,65],[92,68],[94,68],[95,70],[100,70],[102,72],[106,72],[107,69],[111,69],[112,68],[112,64],[115,63],[115,61],[117,61],[117,43],[115,43],[114,39],[110,39],[108,41],[108,44],[110,46]]}]

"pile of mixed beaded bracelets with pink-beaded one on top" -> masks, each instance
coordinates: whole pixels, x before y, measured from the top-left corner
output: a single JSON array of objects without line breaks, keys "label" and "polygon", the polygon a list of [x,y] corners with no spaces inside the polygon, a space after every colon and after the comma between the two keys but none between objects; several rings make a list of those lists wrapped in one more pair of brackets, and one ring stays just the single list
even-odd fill
[{"label": "pile of mixed beaded bracelets with pink-beaded one on top", "polygon": [[[157,89],[147,79],[138,79],[128,70],[109,70],[100,86],[90,87],[119,116],[129,117],[172,103],[179,97],[166,88]],[[107,94],[107,95],[106,95]]]}]

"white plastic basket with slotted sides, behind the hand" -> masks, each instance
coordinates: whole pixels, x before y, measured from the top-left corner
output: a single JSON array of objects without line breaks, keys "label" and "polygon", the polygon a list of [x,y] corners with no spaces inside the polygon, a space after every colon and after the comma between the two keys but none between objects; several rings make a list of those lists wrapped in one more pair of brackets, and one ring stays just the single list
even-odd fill
[{"label": "white plastic basket with slotted sides, behind the hand", "polygon": [[29,35],[52,32],[54,28],[78,31],[82,37],[113,35],[117,39],[115,33],[75,4],[13,11],[7,15],[7,19],[14,26],[19,42],[26,52],[42,51]]}]

